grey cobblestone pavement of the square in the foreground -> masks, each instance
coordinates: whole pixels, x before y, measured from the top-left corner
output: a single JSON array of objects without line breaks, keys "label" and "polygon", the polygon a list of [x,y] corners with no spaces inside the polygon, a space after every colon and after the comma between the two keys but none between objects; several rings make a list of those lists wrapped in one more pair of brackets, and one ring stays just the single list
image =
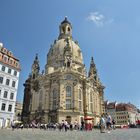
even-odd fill
[{"label": "grey cobblestone pavement of the square in the foreground", "polygon": [[23,129],[1,129],[0,140],[140,140],[140,129],[117,129],[111,133],[93,131],[67,131],[59,132]]}]

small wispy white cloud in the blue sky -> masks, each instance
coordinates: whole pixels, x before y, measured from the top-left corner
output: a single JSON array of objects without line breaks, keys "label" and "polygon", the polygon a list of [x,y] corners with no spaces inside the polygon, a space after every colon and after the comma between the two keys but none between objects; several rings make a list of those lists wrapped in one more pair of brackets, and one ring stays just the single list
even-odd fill
[{"label": "small wispy white cloud in the blue sky", "polygon": [[114,19],[107,19],[103,14],[100,14],[99,12],[90,13],[87,19],[100,27],[104,24],[111,24],[114,21]]}]

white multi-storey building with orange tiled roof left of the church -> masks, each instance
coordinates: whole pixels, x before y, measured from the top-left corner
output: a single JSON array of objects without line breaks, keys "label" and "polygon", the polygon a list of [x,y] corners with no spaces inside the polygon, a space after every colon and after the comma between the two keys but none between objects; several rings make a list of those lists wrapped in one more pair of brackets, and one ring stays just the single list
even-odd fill
[{"label": "white multi-storey building with orange tiled roof left of the church", "polygon": [[19,73],[19,60],[0,43],[0,128],[14,119]]}]

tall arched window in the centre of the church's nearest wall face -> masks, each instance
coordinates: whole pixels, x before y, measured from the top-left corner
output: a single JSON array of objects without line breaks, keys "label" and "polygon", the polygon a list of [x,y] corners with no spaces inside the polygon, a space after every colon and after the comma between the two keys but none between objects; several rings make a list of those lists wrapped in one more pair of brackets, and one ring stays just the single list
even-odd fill
[{"label": "tall arched window in the centre of the church's nearest wall face", "polygon": [[72,88],[70,86],[66,87],[66,109],[72,108]]}]

